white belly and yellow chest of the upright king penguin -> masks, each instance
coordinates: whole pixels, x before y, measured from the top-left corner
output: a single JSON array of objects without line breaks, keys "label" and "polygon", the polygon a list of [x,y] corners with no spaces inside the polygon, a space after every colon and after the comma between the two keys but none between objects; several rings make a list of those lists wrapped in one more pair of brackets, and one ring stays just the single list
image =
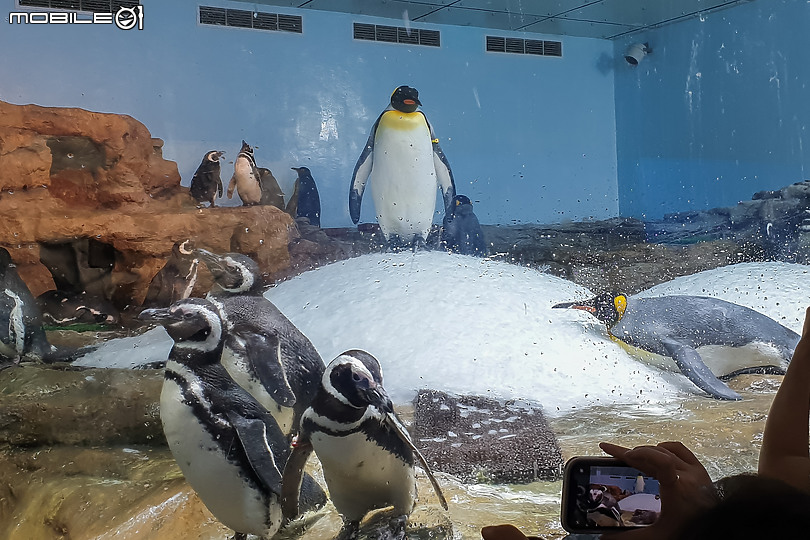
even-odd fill
[{"label": "white belly and yellow chest of the upright king penguin", "polygon": [[371,194],[383,234],[427,238],[436,208],[433,145],[421,113],[388,111],[377,125]]}]

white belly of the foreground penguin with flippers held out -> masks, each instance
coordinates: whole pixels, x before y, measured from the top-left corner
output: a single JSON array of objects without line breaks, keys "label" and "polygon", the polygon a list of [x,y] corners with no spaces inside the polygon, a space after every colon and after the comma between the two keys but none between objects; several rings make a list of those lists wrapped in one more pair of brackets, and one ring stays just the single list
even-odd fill
[{"label": "white belly of the foreground penguin with flippers held out", "polygon": [[333,437],[315,432],[311,437],[329,496],[349,521],[369,510],[393,505],[400,515],[410,514],[416,501],[413,467],[369,441],[363,433]]}]

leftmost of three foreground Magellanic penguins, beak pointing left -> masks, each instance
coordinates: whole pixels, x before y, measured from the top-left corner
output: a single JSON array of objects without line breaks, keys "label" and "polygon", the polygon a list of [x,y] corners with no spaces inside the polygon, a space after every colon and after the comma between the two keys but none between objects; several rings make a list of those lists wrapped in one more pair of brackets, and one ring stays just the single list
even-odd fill
[{"label": "leftmost of three foreground Magellanic penguins, beak pointing left", "polygon": [[[216,306],[189,298],[147,309],[174,340],[160,394],[163,432],[186,481],[237,535],[270,538],[282,525],[282,472],[289,442],[273,417],[219,363],[227,330]],[[325,502],[304,480],[310,507]],[[242,536],[244,538],[244,536]]]}]

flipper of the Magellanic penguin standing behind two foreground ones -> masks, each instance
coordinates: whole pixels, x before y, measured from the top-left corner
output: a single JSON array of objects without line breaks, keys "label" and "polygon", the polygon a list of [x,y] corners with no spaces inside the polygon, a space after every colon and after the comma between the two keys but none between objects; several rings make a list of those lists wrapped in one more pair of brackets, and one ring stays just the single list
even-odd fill
[{"label": "flipper of the Magellanic penguin standing behind two foreground ones", "polygon": [[276,403],[282,407],[295,405],[295,393],[281,361],[281,341],[278,336],[256,332],[255,328],[244,333],[234,328],[233,332],[244,341],[247,357],[251,359],[250,369]]}]

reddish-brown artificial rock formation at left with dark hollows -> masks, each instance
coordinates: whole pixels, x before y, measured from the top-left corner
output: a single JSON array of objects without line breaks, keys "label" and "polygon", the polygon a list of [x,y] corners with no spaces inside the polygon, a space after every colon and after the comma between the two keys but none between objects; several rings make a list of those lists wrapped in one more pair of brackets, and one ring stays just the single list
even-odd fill
[{"label": "reddish-brown artificial rock formation at left with dark hollows", "polygon": [[[135,307],[185,239],[250,255],[267,274],[287,269],[290,216],[270,206],[197,208],[162,146],[126,115],[0,102],[0,246],[34,295],[56,288],[57,264],[57,280],[79,289],[71,292],[92,287]],[[43,246],[62,258],[46,266]],[[94,262],[94,253],[106,256]]]}]

